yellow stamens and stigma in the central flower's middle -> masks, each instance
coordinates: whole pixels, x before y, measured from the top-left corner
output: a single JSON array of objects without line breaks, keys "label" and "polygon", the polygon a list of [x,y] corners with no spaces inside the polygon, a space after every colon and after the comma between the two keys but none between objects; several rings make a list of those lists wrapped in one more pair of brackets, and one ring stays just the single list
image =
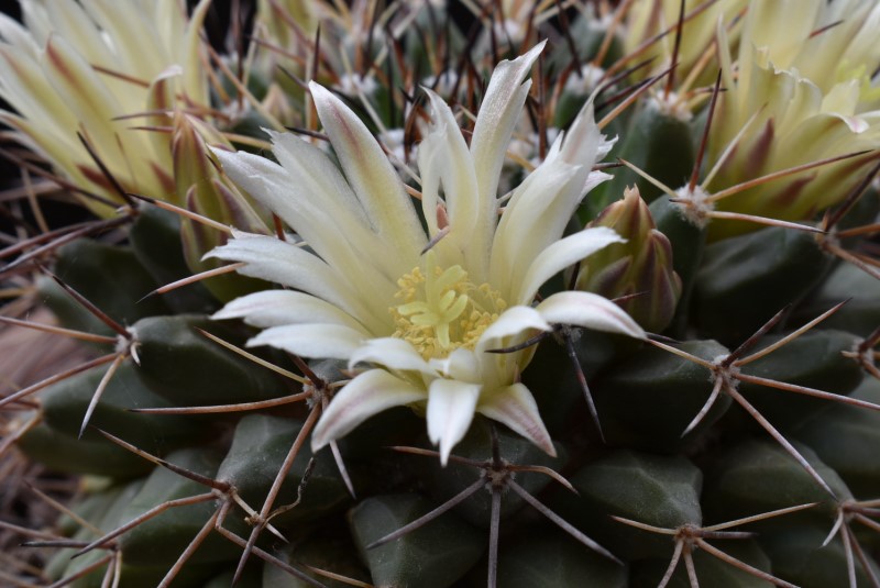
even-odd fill
[{"label": "yellow stamens and stigma in the central flower's middle", "polygon": [[460,265],[443,269],[433,252],[397,280],[400,301],[388,309],[394,336],[408,341],[426,359],[446,357],[459,347],[473,350],[480,335],[507,303],[488,284],[475,285]]}]

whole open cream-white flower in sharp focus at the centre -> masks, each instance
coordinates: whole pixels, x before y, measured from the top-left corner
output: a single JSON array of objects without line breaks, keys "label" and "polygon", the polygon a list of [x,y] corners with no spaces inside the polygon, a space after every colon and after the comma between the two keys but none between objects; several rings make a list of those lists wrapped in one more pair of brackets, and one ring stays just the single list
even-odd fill
[{"label": "whole open cream-white flower in sharp focus at the centre", "polygon": [[317,84],[311,93],[341,170],[290,134],[272,134],[280,165],[218,152],[230,177],[311,251],[238,233],[211,255],[245,262],[243,274],[292,290],[240,298],[216,318],[243,318],[265,329],[251,345],[371,366],[332,399],[314,431],[314,450],[373,414],[414,404],[424,408],[443,463],[475,413],[553,454],[535,399],[518,381],[531,351],[487,352],[560,323],[645,336],[629,315],[596,295],[563,291],[532,304],[550,277],[623,241],[609,229],[561,238],[586,191],[607,178],[591,173],[612,144],[600,134],[592,106],[498,215],[506,147],[529,90],[524,79],[540,49],[497,67],[470,147],[450,108],[428,93],[430,123],[418,151],[428,234],[367,129]]}]

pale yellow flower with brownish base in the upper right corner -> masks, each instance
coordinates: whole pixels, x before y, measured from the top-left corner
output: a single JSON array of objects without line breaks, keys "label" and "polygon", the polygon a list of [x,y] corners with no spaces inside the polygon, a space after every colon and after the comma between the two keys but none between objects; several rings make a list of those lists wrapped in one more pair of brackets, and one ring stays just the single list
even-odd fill
[{"label": "pale yellow flower with brownish base in the upper right corner", "polygon": [[[749,4],[736,53],[719,27],[725,91],[706,163],[723,165],[710,191],[880,147],[878,26],[875,0],[776,0]],[[871,165],[869,156],[838,162],[754,187],[721,200],[718,208],[811,219],[846,196]],[[711,234],[717,238],[750,226],[714,222]]]}]

